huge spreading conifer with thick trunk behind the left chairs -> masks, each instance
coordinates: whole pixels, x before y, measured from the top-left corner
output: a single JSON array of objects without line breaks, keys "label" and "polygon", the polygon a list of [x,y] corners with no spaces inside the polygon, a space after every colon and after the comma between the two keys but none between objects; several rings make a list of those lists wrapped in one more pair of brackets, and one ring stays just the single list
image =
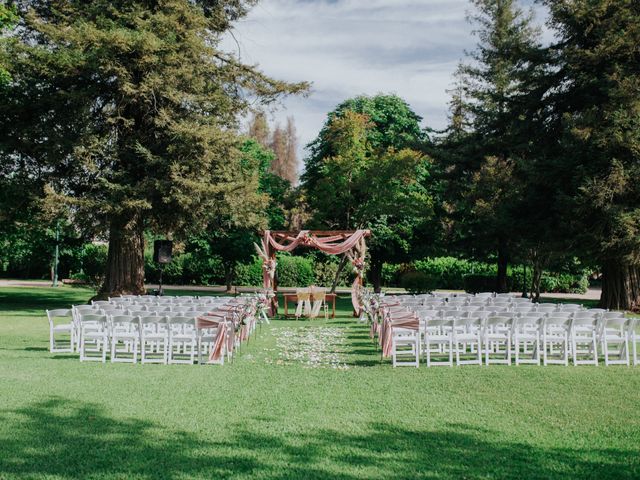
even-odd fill
[{"label": "huge spreading conifer with thick trunk behind the left chairs", "polygon": [[184,235],[212,215],[251,225],[235,131],[273,80],[218,47],[253,2],[20,2],[0,93],[3,169],[109,239],[105,294],[144,289],[144,231]]}]

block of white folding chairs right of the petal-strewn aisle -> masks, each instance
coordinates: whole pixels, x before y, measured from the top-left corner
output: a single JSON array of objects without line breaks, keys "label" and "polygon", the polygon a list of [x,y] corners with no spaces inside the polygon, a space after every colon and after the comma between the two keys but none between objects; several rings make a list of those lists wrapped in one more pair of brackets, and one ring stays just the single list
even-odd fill
[{"label": "block of white folding chairs right of the petal-strewn aisle", "polygon": [[598,365],[599,352],[605,365],[638,364],[638,322],[621,312],[426,316],[418,329],[391,328],[394,367],[417,367],[421,354],[428,367],[453,366],[454,357],[456,365],[481,365],[483,358],[511,365],[513,357],[516,365],[568,365],[570,356],[574,365]]}]

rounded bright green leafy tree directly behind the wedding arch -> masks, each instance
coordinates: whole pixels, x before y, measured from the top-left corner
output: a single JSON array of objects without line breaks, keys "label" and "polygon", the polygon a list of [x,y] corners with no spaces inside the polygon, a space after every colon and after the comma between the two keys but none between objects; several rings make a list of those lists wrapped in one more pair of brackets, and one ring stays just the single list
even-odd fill
[{"label": "rounded bright green leafy tree directly behind the wedding arch", "polygon": [[383,264],[407,257],[414,228],[432,213],[429,162],[410,148],[422,139],[420,117],[406,102],[379,95],[339,105],[309,147],[302,178],[312,222],[324,229],[372,230],[376,289]]}]

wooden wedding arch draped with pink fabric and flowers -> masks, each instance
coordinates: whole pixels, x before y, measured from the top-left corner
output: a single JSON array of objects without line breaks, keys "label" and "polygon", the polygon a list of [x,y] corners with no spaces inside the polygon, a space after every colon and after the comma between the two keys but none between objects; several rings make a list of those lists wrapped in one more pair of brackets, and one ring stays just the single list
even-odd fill
[{"label": "wooden wedding arch draped with pink fabric and flowers", "polygon": [[265,290],[273,290],[269,312],[275,315],[278,311],[278,280],[276,277],[276,254],[291,252],[296,247],[317,248],[330,255],[345,254],[351,261],[356,278],[351,285],[351,303],[354,310],[360,312],[360,290],[364,279],[367,244],[365,238],[371,235],[370,230],[300,230],[298,232],[265,230],[261,246],[256,250],[262,258],[262,279]]}]

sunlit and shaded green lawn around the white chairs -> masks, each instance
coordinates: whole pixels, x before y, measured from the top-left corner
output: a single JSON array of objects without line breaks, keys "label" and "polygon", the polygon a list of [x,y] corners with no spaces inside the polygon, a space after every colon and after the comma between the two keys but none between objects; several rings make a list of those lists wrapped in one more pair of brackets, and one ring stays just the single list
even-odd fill
[{"label": "sunlit and shaded green lawn around the white chairs", "polygon": [[346,299],[224,366],[50,354],[43,310],[90,296],[0,289],[0,479],[640,478],[640,368],[392,369]]}]

